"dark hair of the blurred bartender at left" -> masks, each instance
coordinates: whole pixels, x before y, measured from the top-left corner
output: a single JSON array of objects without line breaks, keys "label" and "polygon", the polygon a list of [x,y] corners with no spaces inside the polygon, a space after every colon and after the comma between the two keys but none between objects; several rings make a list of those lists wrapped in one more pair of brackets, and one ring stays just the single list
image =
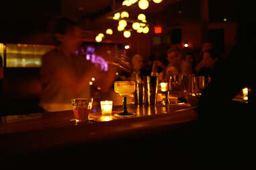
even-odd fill
[{"label": "dark hair of the blurred bartender at left", "polygon": [[52,34],[54,37],[55,43],[58,45],[60,42],[54,36],[55,33],[60,33],[64,35],[68,29],[73,29],[75,26],[79,25],[76,21],[69,19],[68,17],[58,17],[54,20],[54,27]]}]

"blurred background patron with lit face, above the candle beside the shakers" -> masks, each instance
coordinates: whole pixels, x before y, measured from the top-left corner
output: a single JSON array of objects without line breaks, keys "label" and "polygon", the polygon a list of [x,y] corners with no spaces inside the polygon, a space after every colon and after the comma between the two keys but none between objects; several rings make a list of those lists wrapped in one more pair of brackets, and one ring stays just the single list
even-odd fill
[{"label": "blurred background patron with lit face, above the candle beside the shakers", "polygon": [[169,62],[166,68],[166,75],[181,74],[181,51],[179,48],[170,48],[167,51],[167,60]]}]

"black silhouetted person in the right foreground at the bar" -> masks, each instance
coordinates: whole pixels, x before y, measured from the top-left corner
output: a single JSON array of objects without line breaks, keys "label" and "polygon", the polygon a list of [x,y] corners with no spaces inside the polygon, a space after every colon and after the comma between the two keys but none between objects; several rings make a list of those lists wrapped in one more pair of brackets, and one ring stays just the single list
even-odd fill
[{"label": "black silhouetted person in the right foreground at the bar", "polygon": [[[198,140],[185,149],[191,162],[200,160],[200,165],[255,166],[251,157],[255,152],[252,104],[255,52],[251,38],[255,37],[255,21],[246,20],[250,15],[243,17],[244,14],[247,13],[240,11],[238,15],[236,44],[226,58],[216,62],[211,81],[198,101],[196,133],[189,132]],[[248,103],[232,100],[245,87],[251,88]]]}]

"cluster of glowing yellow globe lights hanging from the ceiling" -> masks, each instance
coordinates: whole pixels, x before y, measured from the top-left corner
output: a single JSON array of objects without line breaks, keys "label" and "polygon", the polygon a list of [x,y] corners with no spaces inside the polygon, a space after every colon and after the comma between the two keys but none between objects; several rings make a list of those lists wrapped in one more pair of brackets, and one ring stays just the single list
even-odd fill
[{"label": "cluster of glowing yellow globe lights hanging from the ceiling", "polygon": [[[123,1],[123,6],[130,6],[134,3],[136,3],[138,0],[125,0]],[[163,0],[153,0],[154,3],[161,3]],[[148,0],[139,0],[138,1],[138,7],[142,10],[147,9],[149,6]],[[125,27],[127,26],[127,21],[124,18],[128,18],[129,13],[127,11],[122,11],[122,13],[115,13],[113,19],[119,20],[118,21],[118,31],[124,31]],[[136,30],[138,33],[148,33],[149,28],[146,25],[146,16],[143,13],[140,13],[138,15],[138,20],[141,22],[135,21],[132,23],[132,28]],[[109,35],[112,35],[113,31],[112,29],[107,29],[106,33]],[[124,37],[130,37],[131,32],[130,30],[124,31]],[[95,40],[97,42],[102,41],[102,38],[104,37],[103,33],[99,33],[97,37],[95,37]]]}]

